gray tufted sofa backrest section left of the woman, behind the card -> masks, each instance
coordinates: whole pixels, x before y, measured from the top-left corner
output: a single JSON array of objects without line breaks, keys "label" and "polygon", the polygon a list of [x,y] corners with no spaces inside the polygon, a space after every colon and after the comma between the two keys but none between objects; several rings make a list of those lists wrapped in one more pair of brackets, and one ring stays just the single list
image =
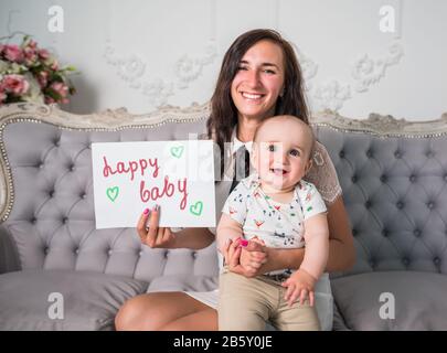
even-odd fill
[{"label": "gray tufted sofa backrest section left of the woman, behind the card", "polygon": [[[215,276],[215,246],[151,249],[135,228],[95,229],[92,142],[194,138],[207,107],[72,115],[49,106],[2,108],[1,226],[15,243],[22,269],[75,269],[145,281],[169,275]],[[142,212],[142,210],[141,210]]]}]

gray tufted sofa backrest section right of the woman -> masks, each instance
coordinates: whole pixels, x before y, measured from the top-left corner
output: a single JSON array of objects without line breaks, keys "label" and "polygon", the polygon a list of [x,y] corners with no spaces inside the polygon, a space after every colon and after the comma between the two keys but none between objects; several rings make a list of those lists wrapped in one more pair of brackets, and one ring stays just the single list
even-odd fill
[{"label": "gray tufted sofa backrest section right of the woman", "polygon": [[348,274],[447,272],[447,114],[409,122],[322,114],[317,138],[336,165],[356,264]]}]

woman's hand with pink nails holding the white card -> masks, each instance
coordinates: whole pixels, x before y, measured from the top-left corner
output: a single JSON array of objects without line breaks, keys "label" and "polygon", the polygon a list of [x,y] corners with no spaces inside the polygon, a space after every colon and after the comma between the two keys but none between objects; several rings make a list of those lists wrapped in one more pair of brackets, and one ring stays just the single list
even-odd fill
[{"label": "woman's hand with pink nails holding the white card", "polygon": [[[149,227],[147,227],[148,217]],[[151,211],[146,208],[141,214],[137,232],[140,236],[141,243],[150,246],[151,248],[173,248],[175,243],[175,234],[168,227],[159,227],[160,206],[156,205]]]}]

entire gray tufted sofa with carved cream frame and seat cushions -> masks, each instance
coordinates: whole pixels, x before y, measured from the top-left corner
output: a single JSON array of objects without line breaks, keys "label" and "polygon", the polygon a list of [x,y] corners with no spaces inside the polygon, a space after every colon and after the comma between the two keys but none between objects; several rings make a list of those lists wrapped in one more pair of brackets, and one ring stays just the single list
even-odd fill
[{"label": "entire gray tufted sofa with carved cream frame and seat cushions", "polygon": [[[214,244],[150,249],[134,228],[96,231],[92,190],[92,142],[188,139],[207,116],[207,105],[139,116],[0,108],[0,330],[113,330],[136,295],[217,286]],[[351,271],[331,276],[336,330],[447,329],[446,126],[447,116],[313,119],[358,254]]]}]

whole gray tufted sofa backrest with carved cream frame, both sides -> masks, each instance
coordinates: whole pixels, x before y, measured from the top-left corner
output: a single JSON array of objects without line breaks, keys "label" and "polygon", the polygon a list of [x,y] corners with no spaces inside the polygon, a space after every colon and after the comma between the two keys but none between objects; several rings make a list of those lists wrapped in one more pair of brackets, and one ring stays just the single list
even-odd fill
[{"label": "whole gray tufted sofa backrest with carved cream frame, both sides", "polygon": [[[135,228],[95,229],[92,157],[98,141],[189,139],[203,133],[209,105],[150,115],[124,109],[72,115],[31,104],[0,109],[0,218],[22,269],[75,269],[150,281],[214,276],[215,245],[141,246]],[[348,274],[447,271],[447,115],[407,122],[332,113],[312,119],[343,190],[356,248]]]}]

